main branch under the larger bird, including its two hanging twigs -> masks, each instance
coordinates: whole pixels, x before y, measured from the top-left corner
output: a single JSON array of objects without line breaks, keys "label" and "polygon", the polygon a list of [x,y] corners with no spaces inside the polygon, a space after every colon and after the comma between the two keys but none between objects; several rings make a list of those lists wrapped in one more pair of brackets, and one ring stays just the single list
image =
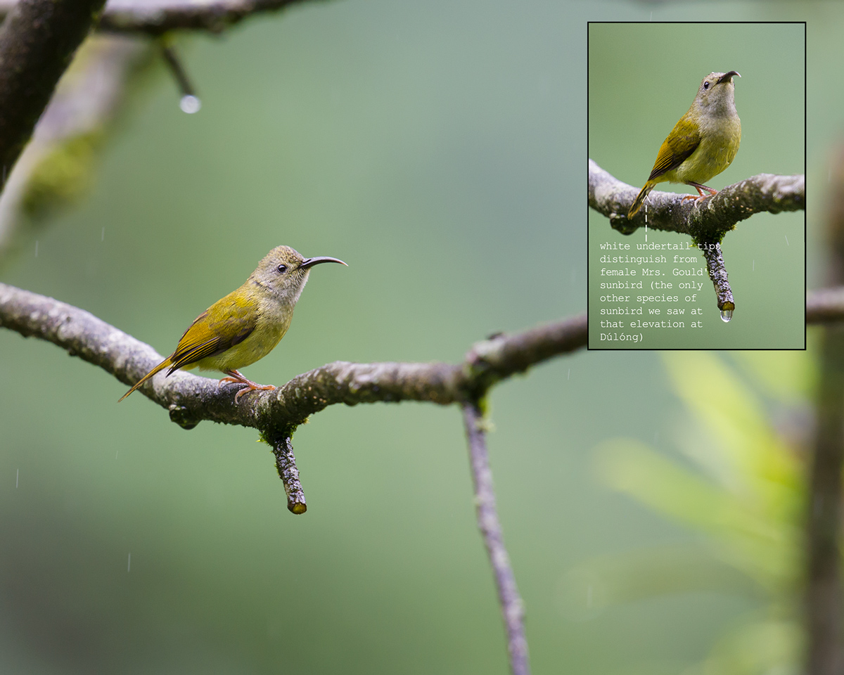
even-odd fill
[{"label": "main branch under the larger bird, including its two hanging twigs", "polygon": [[[160,362],[149,345],[73,305],[0,284],[0,326],[24,337],[47,340],[133,384]],[[522,600],[510,568],[495,511],[489,461],[478,401],[495,383],[546,359],[586,346],[587,317],[557,321],[513,335],[496,335],[473,345],[462,364],[337,361],[297,375],[275,392],[252,392],[234,402],[232,389],[217,381],[176,371],[156,375],[139,391],[170,411],[170,419],[192,429],[203,419],[259,429],[273,448],[288,509],[306,511],[291,438],[309,415],[334,403],[427,401],[463,404],[472,457],[478,518],[490,552],[504,613],[511,666],[527,675],[527,641]]]}]

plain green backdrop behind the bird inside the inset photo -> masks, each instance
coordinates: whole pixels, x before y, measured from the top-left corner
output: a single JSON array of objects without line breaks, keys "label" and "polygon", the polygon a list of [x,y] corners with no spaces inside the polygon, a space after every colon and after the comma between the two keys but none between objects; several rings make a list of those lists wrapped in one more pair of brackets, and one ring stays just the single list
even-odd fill
[{"label": "plain green backdrop behind the bird inside the inset photo", "polygon": [[[732,17],[724,17],[732,19]],[[759,19],[770,19],[760,15]],[[701,79],[711,72],[737,70],[734,78],[736,109],[742,121],[742,141],[736,159],[708,185],[715,189],[751,175],[802,174],[805,151],[805,41],[803,24],[591,24],[589,27],[589,156],[620,181],[639,189],[647,181],[660,143],[689,109]],[[660,183],[657,190],[696,194],[694,188]],[[644,318],[675,319],[666,307],[684,307],[684,330],[643,330],[641,343],[607,343],[598,340],[598,309],[611,306],[640,307],[641,303],[602,303],[608,291],[599,277],[601,242],[632,246],[634,256],[661,251],[636,251],[645,242],[639,229],[626,236],[609,226],[609,220],[590,211],[590,347],[596,348],[804,348],[805,213],[758,213],[739,223],[722,241],[722,251],[736,311],[728,324],[720,320],[708,276],[695,277],[703,287],[698,303],[647,305]],[[686,244],[691,238],[669,232],[647,233],[648,243]],[[612,251],[611,251],[612,252]],[[615,255],[625,251],[616,251]],[[706,267],[700,251],[665,251],[670,262],[675,253],[696,257]],[[644,265],[610,267],[647,267]],[[652,265],[651,267],[657,267]],[[662,268],[670,273],[674,266]],[[637,281],[640,278],[625,278]],[[689,278],[662,278],[672,290],[612,291],[614,294],[686,295],[677,283]],[[647,316],[647,307],[663,307],[663,316]],[[693,308],[703,314],[690,316]],[[695,318],[702,328],[690,328]],[[606,328],[603,332],[608,332]],[[613,332],[613,331],[609,331]],[[640,332],[625,330],[625,332]]]}]

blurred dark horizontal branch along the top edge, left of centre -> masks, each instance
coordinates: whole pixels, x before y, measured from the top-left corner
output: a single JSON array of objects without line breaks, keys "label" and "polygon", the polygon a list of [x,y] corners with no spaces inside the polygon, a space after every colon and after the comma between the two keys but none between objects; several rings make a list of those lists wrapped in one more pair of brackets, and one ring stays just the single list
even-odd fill
[{"label": "blurred dark horizontal branch along the top edge, left of centre", "polygon": [[[168,30],[219,33],[255,13],[273,12],[302,0],[110,0],[100,30],[161,35]],[[15,5],[0,0],[0,18]]]}]

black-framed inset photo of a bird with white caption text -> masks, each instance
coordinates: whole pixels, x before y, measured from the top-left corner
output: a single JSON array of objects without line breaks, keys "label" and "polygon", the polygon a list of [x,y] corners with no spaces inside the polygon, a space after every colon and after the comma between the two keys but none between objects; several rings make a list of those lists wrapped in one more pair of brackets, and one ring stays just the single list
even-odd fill
[{"label": "black-framed inset photo of a bird with white caption text", "polygon": [[588,24],[591,349],[805,348],[804,23]]}]

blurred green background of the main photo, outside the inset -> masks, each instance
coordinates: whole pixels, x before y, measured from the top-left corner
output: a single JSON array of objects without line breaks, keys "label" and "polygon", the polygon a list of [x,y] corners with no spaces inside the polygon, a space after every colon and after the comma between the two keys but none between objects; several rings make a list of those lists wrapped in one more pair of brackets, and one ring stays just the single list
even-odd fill
[{"label": "blurred green background of the main photo, outside the inset", "polygon": [[[838,3],[348,0],[187,36],[202,111],[179,111],[160,67],[93,194],[2,280],[167,354],[284,243],[349,268],[316,270],[288,336],[247,376],[457,361],[491,332],[586,307],[587,20],[703,16],[809,21],[817,285],[841,136]],[[643,143],[630,170],[605,168],[638,181],[655,151]],[[801,169],[762,164],[730,171]],[[0,331],[0,355],[0,670],[507,672],[457,409],[318,414],[295,435],[309,509],[292,516],[256,432],[186,432],[138,395],[117,406],[125,386],[48,343]],[[571,601],[572,570],[590,560],[699,537],[595,470],[594,447],[613,436],[673,455],[694,433],[658,354],[556,359],[491,403],[535,672],[684,672],[761,606],[707,589],[587,611]]]}]

